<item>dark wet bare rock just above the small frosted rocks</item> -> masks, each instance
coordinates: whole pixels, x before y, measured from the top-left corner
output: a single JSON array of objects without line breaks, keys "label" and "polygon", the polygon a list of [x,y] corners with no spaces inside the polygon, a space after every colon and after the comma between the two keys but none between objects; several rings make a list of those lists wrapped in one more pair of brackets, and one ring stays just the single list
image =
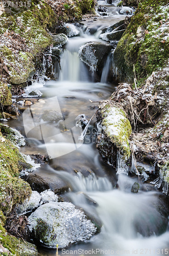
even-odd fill
[{"label": "dark wet bare rock just above the small frosted rocks", "polygon": [[37,190],[39,193],[46,189],[51,189],[55,194],[60,194],[68,189],[64,181],[45,174],[37,175],[36,173],[29,173],[26,181],[31,185],[33,190]]}]

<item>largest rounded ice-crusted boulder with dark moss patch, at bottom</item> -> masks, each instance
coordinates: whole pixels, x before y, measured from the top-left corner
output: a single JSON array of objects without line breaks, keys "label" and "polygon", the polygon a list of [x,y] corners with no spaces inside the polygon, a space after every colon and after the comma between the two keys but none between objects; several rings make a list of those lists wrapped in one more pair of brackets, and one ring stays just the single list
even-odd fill
[{"label": "largest rounded ice-crusted boulder with dark moss patch, at bottom", "polygon": [[96,228],[86,219],[83,211],[67,202],[51,202],[41,205],[29,217],[30,230],[44,246],[64,248],[85,241]]}]

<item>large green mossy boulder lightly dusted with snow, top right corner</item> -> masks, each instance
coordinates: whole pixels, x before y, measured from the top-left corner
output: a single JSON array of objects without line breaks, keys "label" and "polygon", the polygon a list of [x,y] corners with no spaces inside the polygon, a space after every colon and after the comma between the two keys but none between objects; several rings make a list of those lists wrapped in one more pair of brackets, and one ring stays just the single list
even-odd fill
[{"label": "large green mossy boulder lightly dusted with snow, top right corner", "polygon": [[[114,52],[115,64],[124,77],[133,79],[133,64],[138,79],[145,79],[164,66],[169,51],[169,40],[165,39],[169,7],[166,10],[162,7],[166,4],[167,0],[144,0],[139,4]],[[164,31],[160,30],[161,23],[166,23]],[[140,36],[137,34],[138,28],[141,28]]]}]

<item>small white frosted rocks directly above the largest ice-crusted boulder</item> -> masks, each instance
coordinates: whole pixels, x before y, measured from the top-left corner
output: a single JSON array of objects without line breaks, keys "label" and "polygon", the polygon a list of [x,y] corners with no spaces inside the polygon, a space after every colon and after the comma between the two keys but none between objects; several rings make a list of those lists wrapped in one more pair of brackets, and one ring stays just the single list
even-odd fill
[{"label": "small white frosted rocks directly above the largest ice-crusted boulder", "polygon": [[16,207],[18,215],[26,214],[27,212],[33,211],[40,205],[49,202],[57,202],[58,196],[51,189],[46,189],[40,194],[37,191],[32,191],[30,199],[26,199],[25,202],[19,204]]}]

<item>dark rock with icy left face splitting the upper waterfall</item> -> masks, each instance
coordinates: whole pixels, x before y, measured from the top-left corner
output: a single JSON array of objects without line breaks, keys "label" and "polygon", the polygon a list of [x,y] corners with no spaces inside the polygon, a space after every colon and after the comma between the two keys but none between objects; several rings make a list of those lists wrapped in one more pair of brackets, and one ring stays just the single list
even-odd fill
[{"label": "dark rock with icy left face splitting the upper waterfall", "polygon": [[104,62],[111,51],[112,46],[102,42],[89,42],[79,49],[80,59],[90,67],[92,72],[103,68]]}]

